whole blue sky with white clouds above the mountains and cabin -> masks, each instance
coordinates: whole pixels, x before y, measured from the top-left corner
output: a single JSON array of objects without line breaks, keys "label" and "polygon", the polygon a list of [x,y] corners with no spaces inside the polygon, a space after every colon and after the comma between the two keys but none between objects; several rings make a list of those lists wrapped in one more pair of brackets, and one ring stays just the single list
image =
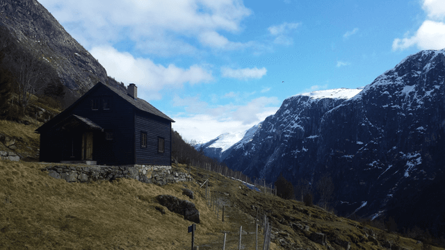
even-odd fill
[{"label": "whole blue sky with white clouds above the mountains and cabin", "polygon": [[287,97],[358,88],[445,48],[445,1],[41,0],[186,140],[243,131]]}]

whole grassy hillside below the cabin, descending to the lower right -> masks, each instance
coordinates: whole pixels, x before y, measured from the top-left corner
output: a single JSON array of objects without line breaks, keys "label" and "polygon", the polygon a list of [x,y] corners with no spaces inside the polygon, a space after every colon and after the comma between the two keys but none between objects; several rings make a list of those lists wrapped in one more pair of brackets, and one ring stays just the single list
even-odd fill
[{"label": "whole grassy hillside below the cabin, descending to the lower right", "polygon": [[[243,246],[254,249],[256,209],[252,206],[270,217],[275,238],[272,249],[325,249],[309,240],[315,232],[325,233],[334,249],[341,249],[336,238],[350,241],[351,249],[383,249],[385,242],[405,249],[423,246],[415,240],[365,228],[321,208],[249,190],[238,181],[202,169],[196,174],[192,168],[197,182],[159,187],[132,179],[67,183],[42,172],[45,166],[0,161],[0,249],[189,249],[191,234],[187,227],[192,222],[166,208],[161,214],[163,207],[154,199],[159,194],[195,203],[201,217],[195,234],[195,244],[200,249],[220,249],[224,232],[227,249],[235,249],[239,226],[245,231]],[[186,171],[183,165],[173,167]],[[205,188],[200,188],[207,174],[215,197],[227,205],[225,222],[217,218],[214,208],[207,206]],[[195,199],[182,194],[184,185],[195,192]],[[309,231],[296,230],[291,223],[307,225]],[[375,240],[371,239],[371,230]],[[262,235],[260,238],[262,249]]]}]

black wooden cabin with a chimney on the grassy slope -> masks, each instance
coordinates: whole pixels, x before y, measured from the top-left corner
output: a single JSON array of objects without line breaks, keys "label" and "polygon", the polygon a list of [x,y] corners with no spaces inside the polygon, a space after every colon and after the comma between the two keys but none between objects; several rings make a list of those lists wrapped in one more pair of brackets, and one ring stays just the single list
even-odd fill
[{"label": "black wooden cabin with a chimney on the grassy slope", "polygon": [[97,83],[37,128],[40,161],[97,165],[170,165],[173,121],[143,99]]}]

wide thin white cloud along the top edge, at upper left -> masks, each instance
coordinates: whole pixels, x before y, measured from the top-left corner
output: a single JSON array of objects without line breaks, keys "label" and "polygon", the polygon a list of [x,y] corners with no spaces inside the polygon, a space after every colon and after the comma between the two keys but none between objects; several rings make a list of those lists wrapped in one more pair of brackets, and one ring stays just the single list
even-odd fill
[{"label": "wide thin white cloud along the top edge, at upper left", "polygon": [[[41,0],[40,3],[87,49],[131,38],[141,50],[149,46],[150,51],[161,55],[168,51],[153,48],[170,49],[163,40],[184,44],[181,36],[197,38],[207,42],[206,46],[227,42],[221,35],[218,41],[216,31],[238,32],[241,21],[252,13],[241,0]],[[188,45],[186,51],[180,52],[191,49]]]}]

